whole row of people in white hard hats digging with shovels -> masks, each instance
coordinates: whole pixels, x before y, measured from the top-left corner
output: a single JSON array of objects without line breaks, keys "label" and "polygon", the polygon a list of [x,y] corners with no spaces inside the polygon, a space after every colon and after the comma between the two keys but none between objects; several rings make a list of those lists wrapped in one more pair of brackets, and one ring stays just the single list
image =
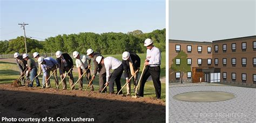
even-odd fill
[{"label": "whole row of people in white hard hats digging with shovels", "polygon": [[[153,85],[156,90],[157,98],[161,95],[161,83],[160,83],[160,64],[161,64],[161,52],[153,45],[151,39],[147,38],[144,42],[144,46],[147,47],[146,58],[144,61],[143,72],[140,76],[141,84],[139,86],[139,92],[136,93],[139,97],[144,96],[144,86],[147,79],[151,76]],[[81,55],[78,51],[73,52],[73,58],[76,59],[76,67],[79,75],[79,90],[83,90],[83,76],[85,75],[90,86],[91,91],[94,91],[92,81],[99,75],[99,92],[106,92],[106,87],[109,86],[109,93],[114,94],[114,82],[116,83],[117,92],[122,94],[120,79],[124,72],[126,79],[127,95],[131,94],[131,82],[133,81],[134,92],[138,89],[138,73],[140,70],[140,57],[133,52],[123,52],[122,61],[114,57],[103,57],[100,53],[88,49],[86,55]],[[36,80],[36,86],[41,86],[38,76],[43,73],[42,88],[51,87],[50,77],[53,75],[55,79],[55,85],[58,88],[62,83],[63,90],[66,90],[65,77],[69,76],[69,85],[71,90],[75,88],[75,81],[72,74],[73,71],[73,59],[68,53],[56,52],[56,59],[51,57],[41,57],[38,52],[33,53],[33,58],[38,61],[38,69],[36,67],[35,60],[31,59],[28,54],[24,53],[23,56],[19,53],[15,53],[17,65],[21,74],[26,74],[29,78],[29,87],[33,86],[33,80]],[[94,67],[91,73],[91,60]],[[60,81],[57,78],[57,69],[59,69]],[[110,70],[113,70],[110,73]],[[50,74],[50,72],[52,72]],[[29,76],[29,77],[28,77]],[[25,84],[24,78],[22,78],[23,84]],[[90,83],[89,83],[90,81]],[[59,83],[60,82],[60,83]]]}]

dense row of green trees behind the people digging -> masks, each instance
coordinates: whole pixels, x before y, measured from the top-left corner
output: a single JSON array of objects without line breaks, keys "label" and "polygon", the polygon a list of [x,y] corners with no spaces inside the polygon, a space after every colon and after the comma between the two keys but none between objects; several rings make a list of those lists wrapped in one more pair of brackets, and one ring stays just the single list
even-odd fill
[{"label": "dense row of green trees behind the people digging", "polygon": [[[154,45],[162,52],[165,52],[165,32],[165,29],[154,30],[150,33],[143,33],[140,30],[127,33],[107,32],[101,34],[80,32],[78,34],[49,37],[44,41],[27,37],[26,46],[28,53],[56,52],[58,50],[62,52],[78,51],[85,53],[89,48],[102,54],[122,54],[124,51],[145,53],[144,40],[151,38]],[[16,39],[1,40],[0,47],[0,54],[24,53],[24,37],[19,36]]]}]

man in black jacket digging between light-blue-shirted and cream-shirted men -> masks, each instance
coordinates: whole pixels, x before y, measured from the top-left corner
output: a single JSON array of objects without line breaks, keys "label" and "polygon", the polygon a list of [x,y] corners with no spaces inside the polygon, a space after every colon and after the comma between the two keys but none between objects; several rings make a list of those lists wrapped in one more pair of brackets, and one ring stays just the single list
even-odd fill
[{"label": "man in black jacket digging between light-blue-shirted and cream-shirted men", "polygon": [[[69,76],[69,85],[72,87],[74,84],[74,77],[73,77],[73,59],[69,56],[68,53],[62,53],[60,51],[56,52],[56,60],[58,63],[58,68],[59,68],[59,75],[60,78],[63,79],[65,77],[65,72],[68,73],[69,70],[71,71],[68,73]],[[66,79],[63,80],[62,82],[62,88],[63,90],[66,90]],[[74,88],[74,87],[73,87]],[[72,89],[73,89],[72,88]]]}]

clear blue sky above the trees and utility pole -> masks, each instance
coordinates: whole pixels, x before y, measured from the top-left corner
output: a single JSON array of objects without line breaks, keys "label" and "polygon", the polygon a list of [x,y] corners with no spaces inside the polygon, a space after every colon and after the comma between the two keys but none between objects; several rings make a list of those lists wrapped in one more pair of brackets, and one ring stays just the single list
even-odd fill
[{"label": "clear blue sky above the trees and utility pole", "polygon": [[1,1],[0,40],[79,32],[151,32],[165,28],[165,1]]}]

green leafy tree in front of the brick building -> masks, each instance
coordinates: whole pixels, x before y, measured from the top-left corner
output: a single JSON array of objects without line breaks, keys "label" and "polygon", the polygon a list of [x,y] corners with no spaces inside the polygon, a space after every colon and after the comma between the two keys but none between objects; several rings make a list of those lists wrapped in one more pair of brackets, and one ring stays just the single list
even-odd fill
[{"label": "green leafy tree in front of the brick building", "polygon": [[[180,59],[180,64],[179,65],[176,65],[176,59]],[[182,84],[183,81],[182,81],[182,78],[183,78],[183,75],[184,73],[187,73],[188,71],[191,71],[191,66],[187,64],[187,54],[181,50],[176,57],[174,57],[172,59],[172,65],[171,65],[171,69],[173,71],[178,71],[181,73],[180,75],[180,83]]]}]

